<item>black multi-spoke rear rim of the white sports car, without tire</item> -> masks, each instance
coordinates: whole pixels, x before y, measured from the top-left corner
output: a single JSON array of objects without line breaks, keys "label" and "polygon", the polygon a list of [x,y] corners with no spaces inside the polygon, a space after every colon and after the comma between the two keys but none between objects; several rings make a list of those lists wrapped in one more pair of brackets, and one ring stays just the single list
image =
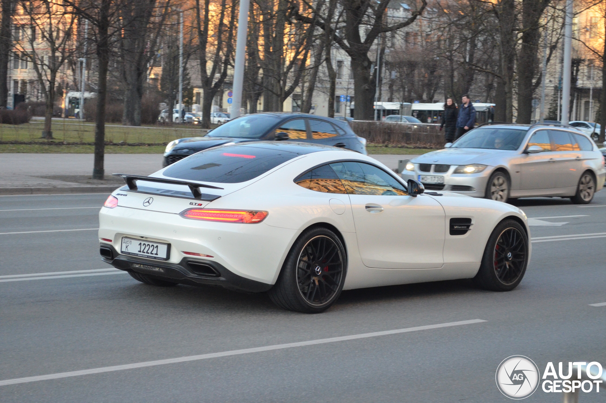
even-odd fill
[{"label": "black multi-spoke rear rim of the white sports car, without tire", "polygon": [[325,235],[311,238],[303,247],[297,265],[297,286],[310,305],[322,305],[338,292],[343,273],[341,251]]}]

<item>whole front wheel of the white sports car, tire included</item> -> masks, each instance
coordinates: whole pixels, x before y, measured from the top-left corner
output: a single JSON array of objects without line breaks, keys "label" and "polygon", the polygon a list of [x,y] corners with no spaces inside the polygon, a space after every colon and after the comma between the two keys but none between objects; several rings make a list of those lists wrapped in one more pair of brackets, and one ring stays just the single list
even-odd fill
[{"label": "whole front wheel of the white sports car, tire included", "polygon": [[478,287],[511,291],[518,286],[528,265],[528,235],[518,221],[506,218],[490,234],[478,274]]}]

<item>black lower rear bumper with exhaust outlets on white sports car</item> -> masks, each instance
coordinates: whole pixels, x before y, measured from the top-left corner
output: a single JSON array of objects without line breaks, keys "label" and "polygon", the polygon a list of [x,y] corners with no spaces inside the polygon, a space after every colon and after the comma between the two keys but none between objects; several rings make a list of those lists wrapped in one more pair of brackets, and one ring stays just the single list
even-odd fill
[{"label": "black lower rear bumper with exhaust outlets on white sports car", "polygon": [[[233,274],[216,261],[183,258],[179,263],[169,263],[121,255],[108,243],[101,243],[101,249],[106,249],[101,259],[116,269],[145,274],[161,280],[190,286],[210,284],[245,292],[264,292],[272,287],[271,284]],[[108,256],[107,249],[112,253],[111,258]]]}]

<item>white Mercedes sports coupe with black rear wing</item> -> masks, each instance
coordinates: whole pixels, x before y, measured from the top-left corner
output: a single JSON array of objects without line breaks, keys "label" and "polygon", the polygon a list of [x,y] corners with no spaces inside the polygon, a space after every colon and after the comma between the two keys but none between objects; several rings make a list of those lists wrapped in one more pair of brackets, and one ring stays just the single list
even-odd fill
[{"label": "white Mercedes sports coupe with black rear wing", "polygon": [[290,142],[224,145],[127,185],[99,212],[104,261],[155,286],[218,284],[322,312],[343,289],[473,278],[512,290],[524,212],[424,192],[371,157]]}]

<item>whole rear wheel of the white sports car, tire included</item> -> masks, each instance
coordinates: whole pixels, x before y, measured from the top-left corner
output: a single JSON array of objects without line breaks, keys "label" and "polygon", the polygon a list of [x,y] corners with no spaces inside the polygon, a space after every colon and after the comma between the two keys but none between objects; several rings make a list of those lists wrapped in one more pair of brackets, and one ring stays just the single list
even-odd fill
[{"label": "whole rear wheel of the white sports car, tire included", "polygon": [[346,274],[347,255],[335,232],[322,227],[308,229],[290,248],[268,295],[281,308],[321,313],[341,295]]}]

